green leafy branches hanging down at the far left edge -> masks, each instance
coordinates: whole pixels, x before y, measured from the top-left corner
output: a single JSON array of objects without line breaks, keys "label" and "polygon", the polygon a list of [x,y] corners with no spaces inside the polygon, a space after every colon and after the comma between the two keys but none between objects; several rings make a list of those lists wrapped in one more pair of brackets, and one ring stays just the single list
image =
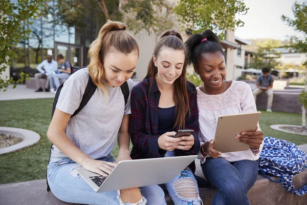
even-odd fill
[{"label": "green leafy branches hanging down at the far left edge", "polygon": [[[7,0],[0,0],[0,74],[8,67],[9,60],[17,55],[11,50],[24,36],[29,35],[30,29],[26,27],[31,24],[30,18],[36,18],[43,0],[18,0],[17,5]],[[0,91],[7,90],[10,84],[21,83],[29,75],[21,73],[17,81],[13,78],[0,78]],[[14,85],[13,88],[15,88]]]}]

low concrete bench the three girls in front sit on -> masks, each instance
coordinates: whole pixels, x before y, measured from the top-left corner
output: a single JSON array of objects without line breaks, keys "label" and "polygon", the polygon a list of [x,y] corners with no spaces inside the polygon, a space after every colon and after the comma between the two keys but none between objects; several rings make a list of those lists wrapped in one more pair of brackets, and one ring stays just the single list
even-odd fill
[{"label": "low concrete bench the three girls in front sit on", "polygon": [[[298,146],[302,151],[307,152],[307,144]],[[200,168],[199,160],[196,160],[196,175],[203,177]],[[277,177],[272,177],[278,180]],[[307,169],[293,178],[296,189],[301,188],[307,184]],[[200,188],[200,196],[204,205],[211,204],[212,198],[217,189]],[[17,183],[9,183],[0,185],[0,204],[72,204],[60,201],[52,192],[46,191],[46,179],[25,181]],[[305,205],[307,201],[307,194],[304,196],[297,196],[295,194],[284,191],[280,183],[269,181],[262,175],[258,175],[257,181],[248,193],[249,200],[252,205],[257,204],[296,204]],[[173,204],[168,196],[166,196],[167,204]],[[151,205],[151,204],[149,204]],[[155,205],[155,204],[153,204]]]}]

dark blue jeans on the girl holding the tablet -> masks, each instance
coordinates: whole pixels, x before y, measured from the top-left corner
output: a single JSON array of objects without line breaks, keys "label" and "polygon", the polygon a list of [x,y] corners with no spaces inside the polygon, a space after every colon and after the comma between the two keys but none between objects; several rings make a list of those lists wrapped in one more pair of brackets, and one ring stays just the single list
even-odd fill
[{"label": "dark blue jeans on the girl holding the tablet", "polygon": [[247,192],[257,179],[257,161],[229,162],[223,158],[207,157],[201,167],[206,179],[218,189],[212,204],[250,204]]}]

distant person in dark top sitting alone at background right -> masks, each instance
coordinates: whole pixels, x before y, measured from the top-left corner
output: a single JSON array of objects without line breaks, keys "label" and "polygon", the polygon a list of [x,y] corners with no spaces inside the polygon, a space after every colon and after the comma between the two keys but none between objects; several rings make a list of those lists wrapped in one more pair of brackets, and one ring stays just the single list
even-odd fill
[{"label": "distant person in dark top sitting alone at background right", "polygon": [[266,92],[268,95],[268,104],[267,104],[267,112],[272,112],[272,104],[273,104],[273,76],[270,74],[270,69],[265,67],[262,68],[262,74],[258,76],[256,83],[257,88],[253,91],[253,95],[255,101],[257,99],[257,95],[262,92]]}]

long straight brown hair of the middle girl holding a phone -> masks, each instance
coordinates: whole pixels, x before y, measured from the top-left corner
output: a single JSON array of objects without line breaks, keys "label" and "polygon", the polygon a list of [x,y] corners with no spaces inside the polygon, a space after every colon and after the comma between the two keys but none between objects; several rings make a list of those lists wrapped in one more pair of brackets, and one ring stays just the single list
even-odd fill
[{"label": "long straight brown hair of the middle girl holding a phone", "polygon": [[[161,50],[165,48],[170,48],[173,50],[182,50],[185,53],[185,60],[182,69],[182,74],[174,81],[174,103],[176,106],[176,122],[174,126],[178,126],[179,129],[183,129],[185,125],[185,116],[188,112],[190,112],[189,107],[189,97],[186,85],[186,69],[187,69],[187,51],[185,45],[183,43],[182,37],[179,33],[174,30],[168,30],[162,34],[158,43],[155,46],[155,50],[153,51],[153,55],[158,58]],[[155,81],[155,77],[158,73],[158,68],[153,63],[153,57],[149,61],[149,65],[147,68],[147,75],[145,78],[150,77],[150,90]]]}]

